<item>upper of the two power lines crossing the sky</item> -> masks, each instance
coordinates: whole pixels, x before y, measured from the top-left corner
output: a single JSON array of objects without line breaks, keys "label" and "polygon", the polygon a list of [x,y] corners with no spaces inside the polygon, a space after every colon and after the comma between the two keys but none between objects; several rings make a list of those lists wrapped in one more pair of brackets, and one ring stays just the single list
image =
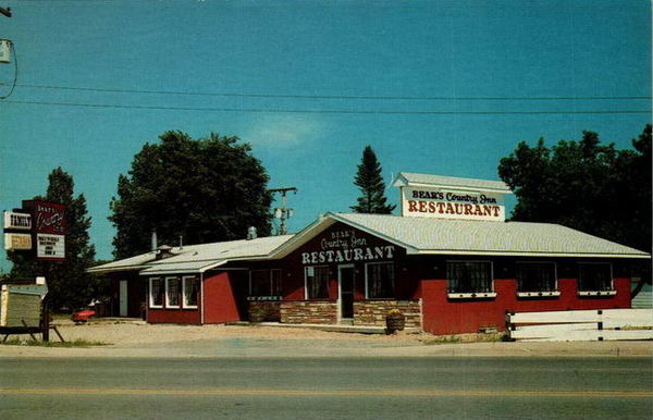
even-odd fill
[{"label": "upper of the two power lines crossing the sky", "polygon": [[141,95],[183,95],[183,96],[213,96],[235,98],[276,98],[276,99],[361,99],[361,100],[465,100],[465,101],[506,101],[506,100],[643,100],[652,99],[650,96],[558,96],[558,97],[447,97],[447,96],[369,96],[369,95],[297,95],[297,94],[234,94],[234,92],[206,92],[184,90],[144,90],[144,89],[114,89],[85,86],[57,86],[17,84],[16,86],[52,89],[52,90],[81,90],[114,94],[141,94]]}]

